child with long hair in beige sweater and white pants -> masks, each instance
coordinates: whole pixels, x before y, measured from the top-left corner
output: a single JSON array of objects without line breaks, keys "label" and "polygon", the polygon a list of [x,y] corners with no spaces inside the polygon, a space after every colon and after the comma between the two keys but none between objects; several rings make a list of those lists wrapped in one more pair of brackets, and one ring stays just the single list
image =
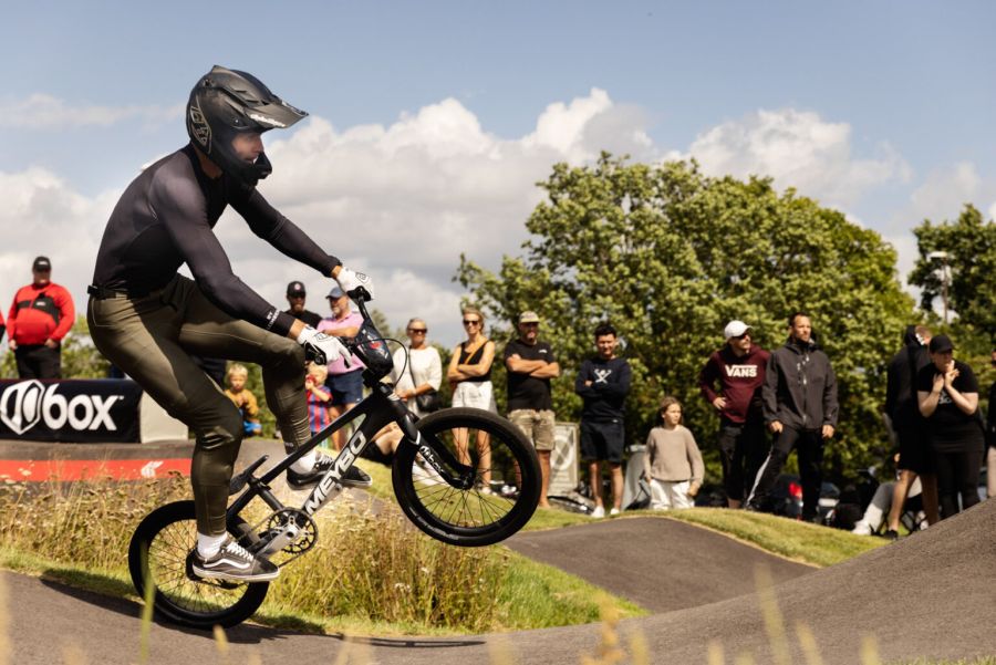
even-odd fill
[{"label": "child with long hair in beige sweater and white pants", "polygon": [[692,508],[702,487],[705,467],[695,437],[682,425],[682,404],[674,397],[661,401],[661,424],[646,437],[644,476],[651,485],[651,508]]}]

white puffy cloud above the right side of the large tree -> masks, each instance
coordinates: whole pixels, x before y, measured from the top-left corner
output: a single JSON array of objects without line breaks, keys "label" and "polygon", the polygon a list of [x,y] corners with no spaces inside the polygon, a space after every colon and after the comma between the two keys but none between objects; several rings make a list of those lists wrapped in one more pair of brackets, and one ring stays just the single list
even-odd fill
[{"label": "white puffy cloud above the right side of the large tree", "polygon": [[851,206],[874,187],[911,177],[902,156],[881,143],[853,156],[851,126],[793,108],[758,111],[699,134],[688,149],[713,175],[768,175],[830,206]]}]

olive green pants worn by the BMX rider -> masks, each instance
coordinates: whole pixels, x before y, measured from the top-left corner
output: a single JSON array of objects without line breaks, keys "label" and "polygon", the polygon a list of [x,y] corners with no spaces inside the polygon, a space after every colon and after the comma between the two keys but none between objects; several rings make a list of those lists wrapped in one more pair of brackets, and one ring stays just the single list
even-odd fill
[{"label": "olive green pants worn by the BMX rider", "polygon": [[177,276],[165,289],[143,298],[91,298],[86,322],[101,353],[194,430],[190,482],[199,532],[225,532],[242,417],[190,354],[259,364],[267,405],[277,416],[286,445],[293,448],[311,437],[303,349],[293,340],[232,319],[194,281]]}]

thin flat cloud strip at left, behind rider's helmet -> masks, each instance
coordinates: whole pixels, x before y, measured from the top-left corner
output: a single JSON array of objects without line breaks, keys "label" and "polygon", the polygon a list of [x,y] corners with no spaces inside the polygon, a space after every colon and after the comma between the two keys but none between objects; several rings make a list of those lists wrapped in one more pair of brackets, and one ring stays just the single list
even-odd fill
[{"label": "thin flat cloud strip at left, behind rider's helmet", "polygon": [[9,127],[61,129],[66,127],[107,127],[131,120],[162,125],[183,117],[184,104],[174,106],[70,105],[59,97],[33,94],[23,100],[0,101],[0,116]]}]

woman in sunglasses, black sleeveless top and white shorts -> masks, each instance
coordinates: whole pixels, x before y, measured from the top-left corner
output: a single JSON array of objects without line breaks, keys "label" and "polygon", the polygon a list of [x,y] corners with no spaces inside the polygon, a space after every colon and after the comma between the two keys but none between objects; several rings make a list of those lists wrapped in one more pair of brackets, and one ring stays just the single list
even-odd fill
[{"label": "woman in sunglasses, black sleeveless top and white shorts", "polygon": [[[476,308],[464,308],[464,330],[467,340],[453,350],[446,378],[453,388],[453,406],[471,406],[498,413],[491,385],[491,363],[495,361],[495,343],[484,334],[485,318]],[[455,433],[457,451],[463,464],[470,463],[468,433]],[[487,433],[477,433],[477,468],[481,490],[491,490],[491,448]]]}]

